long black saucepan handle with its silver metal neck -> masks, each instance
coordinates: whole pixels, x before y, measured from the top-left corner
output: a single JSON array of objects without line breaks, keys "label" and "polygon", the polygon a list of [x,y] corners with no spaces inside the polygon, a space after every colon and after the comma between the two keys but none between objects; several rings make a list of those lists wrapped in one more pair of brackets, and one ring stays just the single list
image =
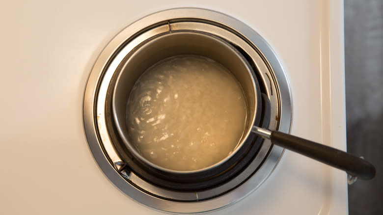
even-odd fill
[{"label": "long black saucepan handle with its silver metal neck", "polygon": [[275,145],[344,170],[349,175],[356,176],[360,179],[370,180],[375,176],[375,167],[370,162],[347,152],[298,136],[277,131],[269,131],[256,126],[253,126],[251,131],[264,138],[270,139]]}]

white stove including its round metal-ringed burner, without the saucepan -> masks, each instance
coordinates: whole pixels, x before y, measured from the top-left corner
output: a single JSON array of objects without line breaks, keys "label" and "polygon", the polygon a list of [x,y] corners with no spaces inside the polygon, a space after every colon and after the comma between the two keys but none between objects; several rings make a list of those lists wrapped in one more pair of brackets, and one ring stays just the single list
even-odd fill
[{"label": "white stove including its round metal-ringed burner, without the saucepan", "polygon": [[268,141],[254,142],[254,156],[219,185],[159,186],[121,156],[107,106],[114,71],[137,44],[203,31],[254,68],[270,100],[264,126],[346,150],[342,2],[47,1],[3,10],[0,212],[348,213],[346,173]]}]

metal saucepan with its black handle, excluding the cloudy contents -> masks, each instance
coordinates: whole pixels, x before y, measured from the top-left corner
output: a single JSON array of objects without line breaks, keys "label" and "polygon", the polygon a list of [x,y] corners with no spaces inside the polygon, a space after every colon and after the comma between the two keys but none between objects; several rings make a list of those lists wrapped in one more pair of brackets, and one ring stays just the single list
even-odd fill
[{"label": "metal saucepan with its black handle, excluding the cloudy contents", "polygon": [[[129,94],[141,74],[151,65],[167,57],[181,54],[200,55],[221,63],[239,81],[247,102],[246,127],[243,137],[233,152],[214,165],[188,171],[167,169],[145,159],[132,144],[126,121]],[[168,185],[165,183],[166,181],[176,181],[183,183],[180,185],[182,189],[203,188],[206,185],[205,179],[220,177],[228,169],[236,168],[238,161],[248,153],[249,144],[252,142],[249,141],[251,133],[256,134],[256,138],[270,139],[275,145],[344,170],[360,179],[368,180],[375,176],[375,167],[359,157],[291,134],[262,128],[260,124],[262,108],[265,107],[267,101],[262,98],[253,68],[244,55],[223,38],[191,30],[173,30],[158,34],[138,44],[124,58],[117,70],[118,76],[113,86],[111,103],[115,128],[132,159],[151,172],[153,177],[147,176],[147,178],[150,178],[151,181],[156,178],[155,183],[164,187]],[[194,187],[192,183],[194,183]],[[183,185],[185,186],[182,187]]]}]

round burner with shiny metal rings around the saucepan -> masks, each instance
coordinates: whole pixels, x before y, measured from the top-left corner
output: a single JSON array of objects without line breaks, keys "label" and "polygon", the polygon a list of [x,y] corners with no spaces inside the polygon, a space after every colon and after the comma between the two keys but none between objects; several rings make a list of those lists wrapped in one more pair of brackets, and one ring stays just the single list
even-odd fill
[{"label": "round burner with shiny metal rings around the saucepan", "polygon": [[[93,156],[109,180],[149,207],[173,213],[199,213],[230,205],[256,189],[271,174],[283,149],[251,134],[236,161],[189,181],[177,181],[137,162],[115,128],[111,95],[124,58],[157,35],[193,31],[214,35],[235,47],[254,71],[262,94],[260,125],[288,133],[290,89],[269,45],[250,27],[226,15],[179,8],[149,15],[121,31],[104,49],[87,82],[83,118]],[[221,174],[221,172],[223,172]],[[210,174],[210,173],[209,173]]]}]

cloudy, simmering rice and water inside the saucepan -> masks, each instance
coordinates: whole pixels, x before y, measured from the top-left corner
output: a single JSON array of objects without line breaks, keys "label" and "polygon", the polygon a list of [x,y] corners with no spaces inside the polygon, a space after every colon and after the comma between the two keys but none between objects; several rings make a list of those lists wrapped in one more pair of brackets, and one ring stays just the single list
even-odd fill
[{"label": "cloudy, simmering rice and water inside the saucepan", "polygon": [[127,106],[131,143],[148,161],[196,170],[226,158],[245,129],[246,100],[223,65],[197,55],[166,58],[135,83]]}]

